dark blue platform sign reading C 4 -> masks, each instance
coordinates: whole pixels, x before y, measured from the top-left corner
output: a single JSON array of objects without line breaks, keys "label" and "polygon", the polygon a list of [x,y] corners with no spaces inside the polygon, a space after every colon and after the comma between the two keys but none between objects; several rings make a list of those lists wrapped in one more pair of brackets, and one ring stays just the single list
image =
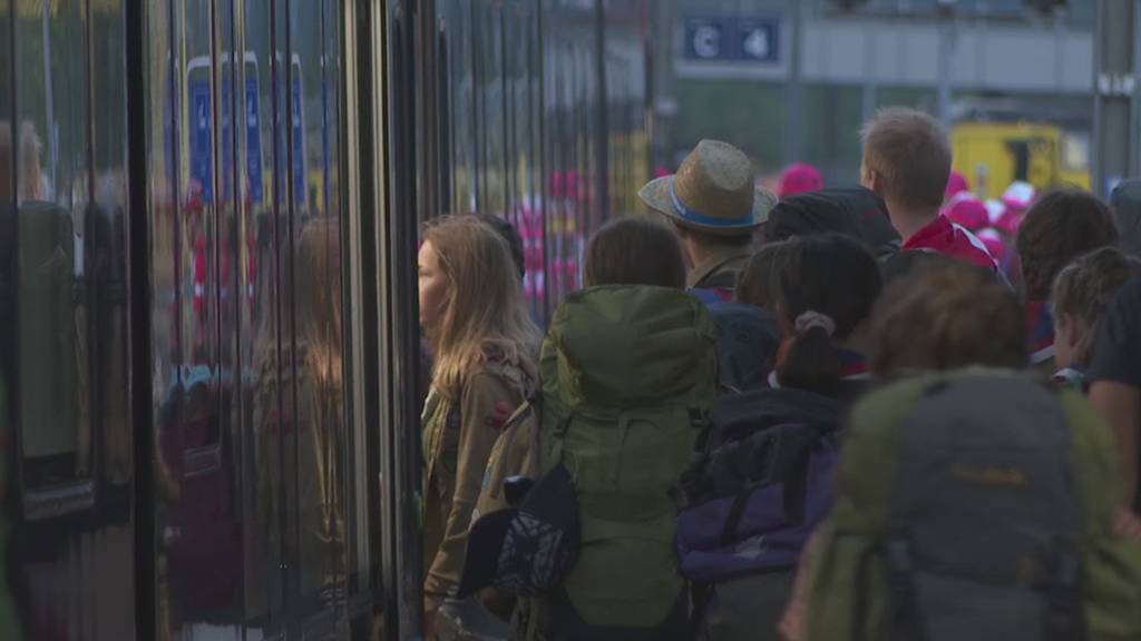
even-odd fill
[{"label": "dark blue platform sign reading C 4", "polygon": [[687,17],[685,57],[696,62],[777,64],[780,18]]}]

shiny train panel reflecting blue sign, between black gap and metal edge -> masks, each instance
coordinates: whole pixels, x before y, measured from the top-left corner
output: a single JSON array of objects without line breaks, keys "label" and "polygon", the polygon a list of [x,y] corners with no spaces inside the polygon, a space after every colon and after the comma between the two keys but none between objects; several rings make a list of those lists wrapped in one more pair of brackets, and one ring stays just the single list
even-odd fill
[{"label": "shiny train panel reflecting blue sign, between black gap and metal edge", "polygon": [[144,636],[345,638],[349,602],[373,601],[373,566],[349,553],[372,532],[348,501],[367,471],[346,391],[341,6],[152,9],[147,59],[165,64],[146,92],[163,160],[148,185],[157,560]]}]

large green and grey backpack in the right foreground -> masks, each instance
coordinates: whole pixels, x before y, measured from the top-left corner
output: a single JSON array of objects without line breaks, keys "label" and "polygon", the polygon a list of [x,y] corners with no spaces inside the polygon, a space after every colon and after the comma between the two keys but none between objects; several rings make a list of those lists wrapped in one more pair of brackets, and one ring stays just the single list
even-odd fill
[{"label": "large green and grey backpack in the right foreground", "polygon": [[986,370],[860,403],[809,567],[807,636],[1141,639],[1112,435],[1081,396]]}]

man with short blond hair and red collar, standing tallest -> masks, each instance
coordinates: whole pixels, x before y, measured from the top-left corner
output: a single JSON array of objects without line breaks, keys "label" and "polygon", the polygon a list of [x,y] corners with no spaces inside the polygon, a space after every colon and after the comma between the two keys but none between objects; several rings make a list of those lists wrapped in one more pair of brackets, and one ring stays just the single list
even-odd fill
[{"label": "man with short blond hair and red collar, standing tallest", "polygon": [[887,202],[904,250],[932,250],[997,270],[974,234],[939,213],[952,153],[939,121],[912,108],[888,107],[864,125],[860,136],[860,182]]}]

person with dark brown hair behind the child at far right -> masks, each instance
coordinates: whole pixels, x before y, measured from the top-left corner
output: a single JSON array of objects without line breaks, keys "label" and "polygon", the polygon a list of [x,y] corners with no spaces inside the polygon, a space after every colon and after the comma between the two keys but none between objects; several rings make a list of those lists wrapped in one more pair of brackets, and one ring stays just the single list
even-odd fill
[{"label": "person with dark brown hair behind the child at far right", "polygon": [[1050,289],[1062,267],[1098,248],[1117,243],[1117,224],[1109,205],[1075,188],[1055,189],[1038,198],[1022,220],[1015,246],[1026,289],[1026,324],[1030,363],[1054,366],[1054,320]]}]

